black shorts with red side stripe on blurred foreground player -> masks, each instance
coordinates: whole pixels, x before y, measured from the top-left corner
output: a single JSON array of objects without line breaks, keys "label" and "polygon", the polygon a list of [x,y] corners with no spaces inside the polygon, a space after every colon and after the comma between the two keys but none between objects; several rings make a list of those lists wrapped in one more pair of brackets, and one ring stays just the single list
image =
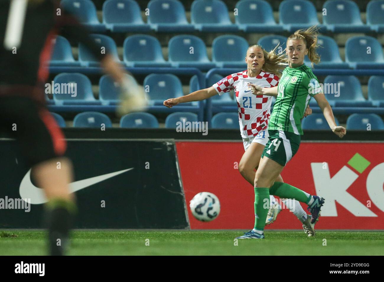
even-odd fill
[{"label": "black shorts with red side stripe on blurred foreground player", "polygon": [[0,124],[0,130],[17,139],[30,167],[65,153],[66,141],[56,120],[31,98],[0,97]]}]

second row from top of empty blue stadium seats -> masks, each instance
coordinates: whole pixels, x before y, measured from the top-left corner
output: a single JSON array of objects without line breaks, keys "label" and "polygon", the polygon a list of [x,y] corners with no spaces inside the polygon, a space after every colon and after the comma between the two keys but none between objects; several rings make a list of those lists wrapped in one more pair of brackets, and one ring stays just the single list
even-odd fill
[{"label": "second row from top of empty blue stadium seats", "polygon": [[[110,52],[116,61],[128,67],[195,67],[202,70],[211,68],[242,68],[246,66],[245,56],[248,42],[237,35],[222,35],[212,43],[212,61],[207,56],[204,41],[194,35],[177,35],[168,43],[166,61],[162,55],[161,45],[157,38],[149,35],[132,35],[124,40],[123,62],[118,57],[114,40],[106,35],[91,35],[92,38]],[[283,51],[287,38],[280,35],[268,35],[260,38],[258,44],[267,51],[281,45],[277,51]],[[79,61],[73,58],[68,40],[57,36],[55,48],[50,61],[51,66],[98,66],[99,62],[89,51],[79,44]],[[318,53],[321,62],[315,68],[384,68],[383,49],[379,41],[371,36],[354,36],[346,41],[344,63],[333,38],[320,35],[318,37]],[[308,57],[305,63],[310,66]]]}]

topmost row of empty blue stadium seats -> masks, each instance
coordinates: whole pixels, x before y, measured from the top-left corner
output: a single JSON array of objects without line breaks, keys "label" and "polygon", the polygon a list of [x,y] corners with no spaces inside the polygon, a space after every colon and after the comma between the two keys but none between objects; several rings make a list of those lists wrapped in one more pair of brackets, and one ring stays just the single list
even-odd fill
[{"label": "topmost row of empty blue stadium seats", "polygon": [[[278,32],[295,31],[318,25],[332,32],[382,32],[384,30],[384,1],[372,0],[367,5],[367,25],[351,0],[328,0],[323,5],[323,24],[316,9],[308,0],[284,0],[279,7],[279,24],[273,18],[271,5],[265,0],[240,0],[234,10],[235,24],[230,21],[227,5],[221,0],[195,0],[191,6],[191,23],[179,0],[151,0],[141,10],[133,0],[108,0],[103,4],[103,23],[100,23],[91,0],[62,0],[61,6],[77,15],[93,31],[143,32],[208,31],[208,32]],[[325,12],[324,12],[325,11]],[[257,16],[256,16],[257,15]]]}]

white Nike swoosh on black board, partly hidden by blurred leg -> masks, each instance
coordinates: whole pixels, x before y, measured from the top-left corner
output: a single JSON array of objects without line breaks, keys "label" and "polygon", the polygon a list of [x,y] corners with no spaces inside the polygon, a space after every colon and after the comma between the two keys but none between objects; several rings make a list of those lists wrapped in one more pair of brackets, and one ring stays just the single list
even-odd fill
[{"label": "white Nike swoosh on black board, partly hidden by blurred leg", "polygon": [[[119,170],[118,172],[111,172],[104,175],[98,175],[91,178],[78,180],[70,183],[70,191],[71,193],[84,189],[93,184],[99,183],[103,180],[111,178],[113,176],[119,175],[123,172],[127,172],[129,170],[133,170],[134,168],[128,168],[126,170]],[[48,202],[43,189],[40,189],[32,184],[31,182],[31,170],[28,170],[26,175],[24,176],[22,182],[20,183],[19,188],[20,197],[22,199],[30,199],[31,204],[43,204]]]}]

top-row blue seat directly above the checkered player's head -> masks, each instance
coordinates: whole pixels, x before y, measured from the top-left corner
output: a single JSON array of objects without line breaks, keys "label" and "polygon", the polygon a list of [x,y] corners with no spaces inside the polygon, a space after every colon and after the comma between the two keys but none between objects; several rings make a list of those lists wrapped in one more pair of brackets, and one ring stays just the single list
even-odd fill
[{"label": "top-row blue seat directly above the checkered player's head", "polygon": [[[273,18],[271,5],[265,0],[240,0],[236,3],[235,22],[244,32],[282,32],[283,27]],[[257,16],[255,16],[257,14]]]}]

